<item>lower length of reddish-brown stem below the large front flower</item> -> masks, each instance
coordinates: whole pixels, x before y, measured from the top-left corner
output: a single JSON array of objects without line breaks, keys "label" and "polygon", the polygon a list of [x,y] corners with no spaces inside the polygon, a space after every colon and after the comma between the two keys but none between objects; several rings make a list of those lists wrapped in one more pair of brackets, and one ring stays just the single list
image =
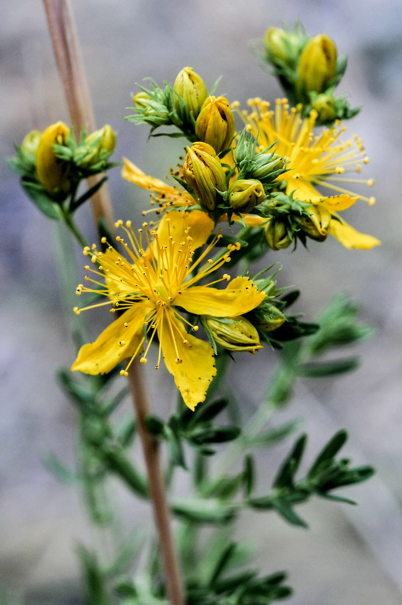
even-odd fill
[{"label": "lower length of reddish-brown stem below the large front flower", "polygon": [[183,590],[180,581],[179,564],[174,551],[171,532],[170,514],[166,501],[166,491],[163,485],[160,469],[159,446],[156,437],[148,431],[145,419],[150,413],[147,391],[142,379],[138,362],[128,368],[128,381],[133,393],[134,410],[136,412],[138,432],[143,446],[145,464],[147,465],[148,486],[154,510],[154,518],[159,533],[160,550],[165,564],[166,588],[172,605],[183,605]]}]

